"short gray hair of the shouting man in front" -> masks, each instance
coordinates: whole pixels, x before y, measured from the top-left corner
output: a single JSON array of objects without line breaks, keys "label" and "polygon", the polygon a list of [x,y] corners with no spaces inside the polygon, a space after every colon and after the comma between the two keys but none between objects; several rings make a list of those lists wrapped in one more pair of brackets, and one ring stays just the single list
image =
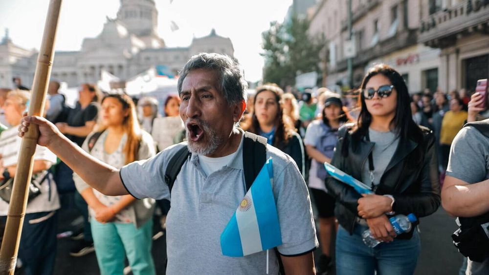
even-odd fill
[{"label": "short gray hair of the shouting man in front", "polygon": [[218,73],[222,94],[229,105],[246,101],[248,83],[244,80],[240,64],[227,55],[217,53],[200,53],[190,58],[180,71],[178,94],[182,91],[185,77],[196,69],[215,70]]}]

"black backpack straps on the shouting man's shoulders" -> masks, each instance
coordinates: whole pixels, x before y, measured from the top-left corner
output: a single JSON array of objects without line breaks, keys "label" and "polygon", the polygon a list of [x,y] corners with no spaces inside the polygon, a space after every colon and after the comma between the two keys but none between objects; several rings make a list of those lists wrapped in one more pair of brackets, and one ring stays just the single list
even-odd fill
[{"label": "black backpack straps on the shouting man's shoulders", "polygon": [[[246,153],[245,153],[246,152]],[[170,193],[172,192],[173,185],[177,179],[178,173],[183,164],[187,161],[188,157],[192,153],[189,152],[188,147],[180,148],[175,155],[168,162],[169,165],[165,171],[165,182],[168,185]],[[243,139],[243,170],[244,170],[244,183],[246,185],[246,191],[251,188],[253,181],[255,180],[260,170],[267,161],[267,139],[255,135],[250,132],[244,132]],[[280,254],[277,248],[274,249],[277,254],[279,262],[280,274],[285,274],[284,266],[280,258]],[[166,259],[168,260],[168,258]],[[165,264],[166,266],[166,264]]]}]

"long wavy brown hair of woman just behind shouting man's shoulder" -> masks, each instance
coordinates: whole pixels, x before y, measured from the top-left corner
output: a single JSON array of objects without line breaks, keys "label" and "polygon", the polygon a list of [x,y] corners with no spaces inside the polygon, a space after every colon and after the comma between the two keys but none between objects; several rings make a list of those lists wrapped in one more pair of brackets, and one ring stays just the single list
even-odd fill
[{"label": "long wavy brown hair of woman just behind shouting man's shoulder", "polygon": [[[263,85],[256,89],[254,104],[256,104],[256,97],[258,96],[258,94],[264,91],[272,92],[275,95],[275,102],[278,105],[278,112],[274,122],[275,137],[273,138],[273,144],[272,144],[273,146],[277,147],[282,142],[287,143],[289,141],[289,137],[290,137],[289,130],[291,130],[289,125],[284,120],[284,106],[282,105],[282,101],[281,101],[281,97],[284,92],[278,85],[274,83],[267,83],[266,85]],[[253,109],[256,110],[255,108]],[[259,135],[260,130],[261,130],[260,123],[258,122],[258,118],[256,117],[256,114],[253,111],[253,116],[251,117],[251,126],[249,127],[248,131]]]}]

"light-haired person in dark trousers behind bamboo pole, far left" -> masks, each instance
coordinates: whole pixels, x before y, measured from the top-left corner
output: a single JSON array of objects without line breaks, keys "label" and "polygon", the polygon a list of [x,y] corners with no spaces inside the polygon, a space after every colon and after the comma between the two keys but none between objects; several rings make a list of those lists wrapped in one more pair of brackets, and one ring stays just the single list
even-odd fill
[{"label": "light-haired person in dark trousers behind bamboo pole, far left", "polygon": [[[30,99],[28,91],[13,90],[7,94],[3,105],[5,118],[11,128],[0,135],[0,150],[2,154],[0,169],[1,185],[6,180],[15,177],[17,160],[21,148],[21,139],[18,137],[17,128],[22,119],[22,113],[27,108]],[[22,226],[22,237],[19,246],[19,258],[22,259],[26,275],[50,275],[54,272],[56,258],[56,231],[57,213],[60,208],[58,192],[48,169],[56,163],[56,156],[47,148],[37,146],[34,153],[34,168],[32,180],[39,188],[37,195],[31,194],[27,202],[25,216]],[[13,179],[12,179],[13,180]],[[6,189],[11,190],[12,186]],[[3,193],[0,196],[0,216],[5,221],[9,195]]]}]

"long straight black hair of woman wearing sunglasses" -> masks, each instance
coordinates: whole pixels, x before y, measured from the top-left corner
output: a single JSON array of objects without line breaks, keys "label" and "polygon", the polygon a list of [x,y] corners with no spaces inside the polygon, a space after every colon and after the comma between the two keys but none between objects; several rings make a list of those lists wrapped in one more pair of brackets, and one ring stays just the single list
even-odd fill
[{"label": "long straight black hair of woman wearing sunglasses", "polygon": [[[366,87],[369,80],[373,76],[376,76],[378,74],[387,77],[397,91],[396,114],[391,121],[391,126],[394,127],[395,132],[399,134],[401,140],[412,140],[418,144],[421,143],[423,134],[420,127],[416,125],[416,123],[413,121],[410,106],[411,99],[409,97],[409,92],[407,90],[404,79],[402,78],[400,73],[394,68],[386,64],[378,64],[367,71],[367,74],[363,78],[362,84],[360,86],[358,96],[360,97],[361,110],[358,116],[357,124],[351,132],[353,141],[352,146],[358,144],[358,142],[367,135],[368,128],[370,126],[370,123],[372,122],[372,115],[367,110],[365,97],[363,96],[362,90]],[[412,164],[418,164],[421,160],[420,156],[422,152],[420,146],[418,146],[416,151],[417,152],[413,154],[413,156],[415,155],[417,159],[413,157],[414,161],[411,162]],[[343,153],[345,153],[345,151],[343,151]]]}]

